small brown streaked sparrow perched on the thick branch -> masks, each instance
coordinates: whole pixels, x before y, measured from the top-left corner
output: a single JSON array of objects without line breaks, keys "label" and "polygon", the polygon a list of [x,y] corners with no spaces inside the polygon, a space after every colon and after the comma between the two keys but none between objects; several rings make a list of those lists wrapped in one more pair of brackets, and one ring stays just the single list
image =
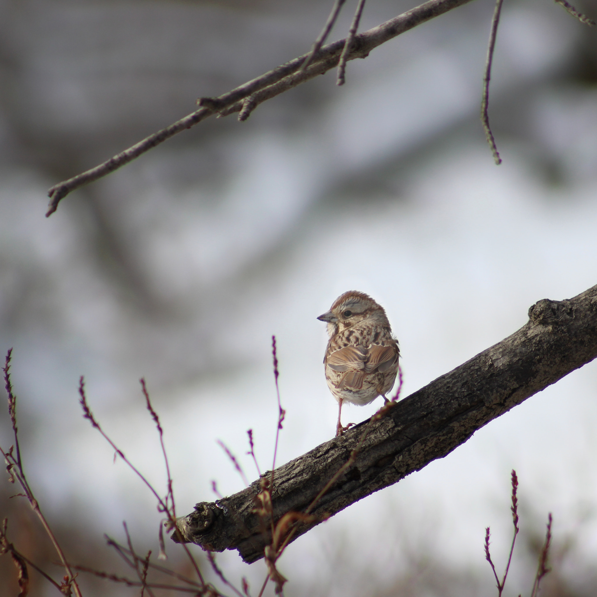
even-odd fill
[{"label": "small brown streaked sparrow perched on the thick branch", "polygon": [[377,396],[388,402],[398,373],[400,350],[383,307],[356,290],[341,294],[319,321],[328,324],[325,379],[338,401],[336,437],[350,424],[340,422],[343,402],[370,404]]}]

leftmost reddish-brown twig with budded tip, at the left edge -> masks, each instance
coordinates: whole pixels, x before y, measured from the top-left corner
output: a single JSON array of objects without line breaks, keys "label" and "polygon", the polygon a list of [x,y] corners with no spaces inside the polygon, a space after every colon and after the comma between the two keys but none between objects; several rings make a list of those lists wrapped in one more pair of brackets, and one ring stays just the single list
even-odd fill
[{"label": "leftmost reddish-brown twig with budded tip, at the left edge", "polygon": [[[4,459],[7,463],[7,471],[8,471],[8,474],[10,475],[10,480],[14,482],[14,479],[16,478],[17,481],[19,481],[19,484],[21,485],[21,487],[23,488],[23,491],[25,492],[24,496],[29,501],[29,504],[30,504],[33,512],[36,513],[39,520],[41,521],[41,524],[44,527],[45,532],[47,533],[48,537],[50,537],[50,540],[52,541],[54,549],[56,549],[56,552],[59,555],[60,562],[63,565],[64,570],[67,573],[67,576],[63,583],[64,586],[67,587],[67,589],[70,589],[70,587],[72,587],[72,590],[74,590],[76,597],[81,597],[81,590],[79,589],[79,585],[76,583],[75,575],[72,573],[72,570],[70,569],[69,562],[67,561],[66,556],[64,555],[64,552],[63,552],[62,548],[60,547],[60,544],[58,543],[56,536],[54,535],[53,531],[51,530],[50,525],[48,524],[48,521],[45,519],[45,516],[42,514],[42,511],[39,507],[38,501],[35,499],[35,496],[33,496],[33,491],[31,490],[31,487],[29,485],[29,482],[27,481],[27,478],[25,476],[25,472],[23,469],[23,462],[21,461],[21,453],[20,453],[20,448],[19,448],[19,434],[18,434],[18,430],[17,430],[17,397],[13,393],[13,386],[10,381],[10,359],[11,359],[12,352],[13,352],[13,349],[8,350],[8,353],[6,355],[6,361],[5,361],[4,367],[2,368],[2,371],[4,371],[4,384],[5,384],[7,394],[8,394],[8,413],[10,414],[11,425],[13,427],[13,432],[14,432],[14,443],[16,446],[16,457],[13,455],[12,447],[10,448],[10,450],[8,452],[5,452],[4,449],[2,449],[2,447],[0,447],[0,451],[2,451],[2,455],[4,456]],[[36,568],[36,570],[38,570],[38,568]]]}]

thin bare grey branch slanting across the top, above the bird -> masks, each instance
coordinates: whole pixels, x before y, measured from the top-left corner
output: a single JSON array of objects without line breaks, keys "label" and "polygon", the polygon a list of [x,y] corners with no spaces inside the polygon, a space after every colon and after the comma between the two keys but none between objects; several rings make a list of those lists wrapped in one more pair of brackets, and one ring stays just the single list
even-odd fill
[{"label": "thin bare grey branch slanting across the top, above the bird", "polygon": [[[406,13],[402,13],[394,19],[390,19],[385,23],[381,23],[377,27],[373,27],[368,31],[356,35],[350,45],[350,52],[346,56],[346,60],[354,60],[355,58],[365,58],[371,50],[378,45],[383,44],[389,39],[395,38],[397,35],[416,27],[417,25],[433,19],[440,14],[447,13],[453,8],[457,8],[472,0],[429,0],[424,2],[416,8],[412,8]],[[50,204],[46,217],[56,211],[61,199],[66,197],[71,191],[78,189],[84,184],[91,183],[101,177],[118,170],[128,162],[139,157],[141,154],[149,151],[156,145],[163,143],[174,135],[181,133],[181,131],[191,128],[214,114],[228,115],[232,112],[239,112],[245,105],[245,100],[249,99],[251,110],[258,104],[265,100],[277,96],[296,87],[305,81],[309,81],[317,75],[322,75],[330,69],[337,66],[340,60],[340,54],[344,48],[346,40],[340,39],[333,44],[328,44],[321,48],[313,57],[309,67],[305,70],[300,70],[304,60],[309,54],[303,54],[286,64],[276,67],[273,70],[248,81],[240,87],[236,87],[232,91],[224,93],[220,97],[202,98],[199,100],[199,110],[185,116],[169,127],[162,128],[161,131],[153,133],[146,139],[139,141],[132,147],[125,149],[123,152],[113,156],[103,164],[91,168],[82,174],[78,174],[69,180],[64,180],[61,183],[55,184],[48,190],[50,196]],[[250,110],[249,110],[250,112]],[[248,112],[244,114],[246,119]]]}]

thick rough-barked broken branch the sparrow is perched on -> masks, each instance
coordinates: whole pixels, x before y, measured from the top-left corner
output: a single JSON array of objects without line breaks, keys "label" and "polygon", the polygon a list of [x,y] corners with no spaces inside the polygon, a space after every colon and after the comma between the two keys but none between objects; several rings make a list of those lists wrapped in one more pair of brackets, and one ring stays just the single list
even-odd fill
[{"label": "thick rough-barked broken branch the sparrow is perched on", "polygon": [[[372,423],[356,460],[315,508],[316,522],[392,485],[463,444],[476,430],[597,356],[597,286],[570,300],[543,299],[529,309],[520,330],[438,377]],[[304,512],[343,466],[364,423],[275,471],[273,516]],[[264,473],[267,476],[270,473]],[[179,519],[187,541],[205,549],[238,549],[246,562],[263,557],[270,537],[253,513],[259,481],[217,503],[196,504]]]}]

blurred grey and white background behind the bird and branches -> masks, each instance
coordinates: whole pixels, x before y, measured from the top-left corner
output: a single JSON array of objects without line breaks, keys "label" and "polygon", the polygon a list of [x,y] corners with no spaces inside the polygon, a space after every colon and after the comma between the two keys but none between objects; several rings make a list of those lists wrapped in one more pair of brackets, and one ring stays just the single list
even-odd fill
[{"label": "blurred grey and white background behind the bird and branches", "polygon": [[[126,520],[139,551],[157,553],[160,520],[82,418],[81,374],[106,432],[165,493],[146,378],[184,515],[216,498],[212,480],[223,494],[243,487],[218,439],[252,480],[253,429],[271,467],[272,334],[287,411],[278,463],[334,435],[315,318],[344,291],[386,308],[407,396],[524,325],[537,300],[597,284],[596,32],[544,0],[504,4],[490,97],[499,167],[479,123],[494,2],[476,0],[350,62],[344,87],[330,72],[247,122],[202,122],[45,219],[48,187],[192,112],[196,97],[304,53],[330,5],[0,0],[0,348],[14,347],[26,472],[72,561],[124,574],[103,533],[125,540]],[[412,6],[370,0],[361,30]],[[577,8],[597,17],[592,2]],[[353,10],[330,39],[346,35]],[[279,562],[285,593],[497,595],[484,533],[501,571],[514,468],[521,534],[507,591],[530,594],[552,512],[543,595],[594,595],[596,384],[586,365],[300,537]],[[380,404],[346,407],[343,422]],[[8,449],[6,413],[0,424]],[[61,578],[28,504],[1,487],[11,540]],[[219,562],[259,592],[262,561]],[[31,595],[56,594],[30,574]],[[80,581],[86,596],[136,594]],[[17,594],[8,556],[0,584]]]}]

